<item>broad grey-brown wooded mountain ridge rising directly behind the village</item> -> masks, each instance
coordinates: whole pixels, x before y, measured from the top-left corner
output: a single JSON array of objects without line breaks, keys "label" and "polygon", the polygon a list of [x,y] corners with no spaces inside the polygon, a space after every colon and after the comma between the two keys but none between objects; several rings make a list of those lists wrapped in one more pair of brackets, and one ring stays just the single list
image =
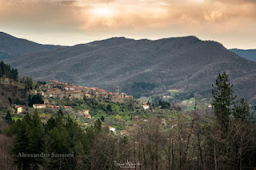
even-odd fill
[{"label": "broad grey-brown wooded mountain ridge rising directly behind the village", "polygon": [[218,73],[226,71],[240,97],[256,103],[256,62],[230,52],[218,42],[196,37],[110,38],[6,61],[35,81],[72,82],[135,97],[184,89],[185,96],[210,97]]}]

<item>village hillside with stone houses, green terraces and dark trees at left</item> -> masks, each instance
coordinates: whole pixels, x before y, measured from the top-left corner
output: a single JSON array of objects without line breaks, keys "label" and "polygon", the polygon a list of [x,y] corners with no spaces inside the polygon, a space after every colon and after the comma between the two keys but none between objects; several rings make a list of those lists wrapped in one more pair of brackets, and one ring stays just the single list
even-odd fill
[{"label": "village hillside with stone houses, green terraces and dark trees at left", "polygon": [[154,111],[150,102],[141,103],[133,96],[120,93],[118,86],[114,93],[110,93],[97,87],[55,80],[48,84],[46,81],[35,82],[31,77],[18,78],[15,69],[2,65],[0,70],[6,69],[0,73],[0,115],[10,115],[10,122],[22,121],[34,113],[44,123],[50,117],[65,115],[83,129],[100,120],[103,127],[111,125],[110,132],[117,129],[120,134],[127,134],[127,128],[136,126],[134,121],[147,119],[147,113]]}]

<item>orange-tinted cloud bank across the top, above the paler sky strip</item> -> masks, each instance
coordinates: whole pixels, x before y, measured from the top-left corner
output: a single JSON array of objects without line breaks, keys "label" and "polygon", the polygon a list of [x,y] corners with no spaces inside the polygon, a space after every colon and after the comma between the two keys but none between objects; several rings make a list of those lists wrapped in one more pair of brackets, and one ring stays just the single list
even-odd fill
[{"label": "orange-tinted cloud bank across the top, above the paler sky strip", "polygon": [[[255,19],[253,0],[0,0],[0,20],[49,26],[69,23],[74,29],[162,27],[195,28],[233,19]],[[209,7],[210,6],[210,7]],[[131,26],[132,25],[132,26]],[[192,26],[193,26],[192,25]],[[182,26],[182,25],[181,25]]]}]

